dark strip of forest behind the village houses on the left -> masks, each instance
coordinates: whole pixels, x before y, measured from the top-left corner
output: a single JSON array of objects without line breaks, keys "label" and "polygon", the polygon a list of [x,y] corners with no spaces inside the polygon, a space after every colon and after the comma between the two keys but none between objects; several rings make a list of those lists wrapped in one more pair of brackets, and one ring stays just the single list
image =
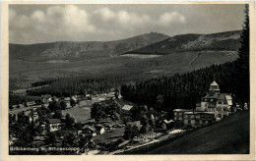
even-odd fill
[{"label": "dark strip of forest behind the village houses on the left", "polygon": [[[117,87],[122,80],[118,77],[105,77],[88,79],[86,77],[74,77],[62,80],[47,81],[48,86],[28,90],[28,95],[40,96],[51,94],[53,96],[70,96],[74,94],[97,94],[108,92],[110,88]],[[45,82],[40,82],[45,84]],[[37,83],[34,83],[37,84]]]}]

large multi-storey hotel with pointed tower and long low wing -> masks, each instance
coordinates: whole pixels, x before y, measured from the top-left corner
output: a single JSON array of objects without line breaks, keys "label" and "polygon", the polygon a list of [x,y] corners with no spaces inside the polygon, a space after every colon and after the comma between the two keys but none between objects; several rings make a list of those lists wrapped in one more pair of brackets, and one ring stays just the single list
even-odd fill
[{"label": "large multi-storey hotel with pointed tower and long low wing", "polygon": [[231,95],[221,93],[219,84],[214,80],[210,84],[209,92],[202,97],[201,103],[196,104],[195,111],[174,109],[173,120],[175,121],[175,127],[196,128],[221,120],[234,111],[236,110],[232,108]]}]

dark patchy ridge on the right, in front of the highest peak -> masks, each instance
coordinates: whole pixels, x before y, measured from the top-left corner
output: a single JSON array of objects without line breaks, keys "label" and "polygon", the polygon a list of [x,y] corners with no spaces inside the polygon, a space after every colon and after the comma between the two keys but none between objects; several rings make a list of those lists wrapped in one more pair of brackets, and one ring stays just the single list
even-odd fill
[{"label": "dark patchy ridge on the right, in front of the highest peak", "polygon": [[184,51],[237,51],[241,30],[213,34],[182,34],[124,54],[167,55]]}]

